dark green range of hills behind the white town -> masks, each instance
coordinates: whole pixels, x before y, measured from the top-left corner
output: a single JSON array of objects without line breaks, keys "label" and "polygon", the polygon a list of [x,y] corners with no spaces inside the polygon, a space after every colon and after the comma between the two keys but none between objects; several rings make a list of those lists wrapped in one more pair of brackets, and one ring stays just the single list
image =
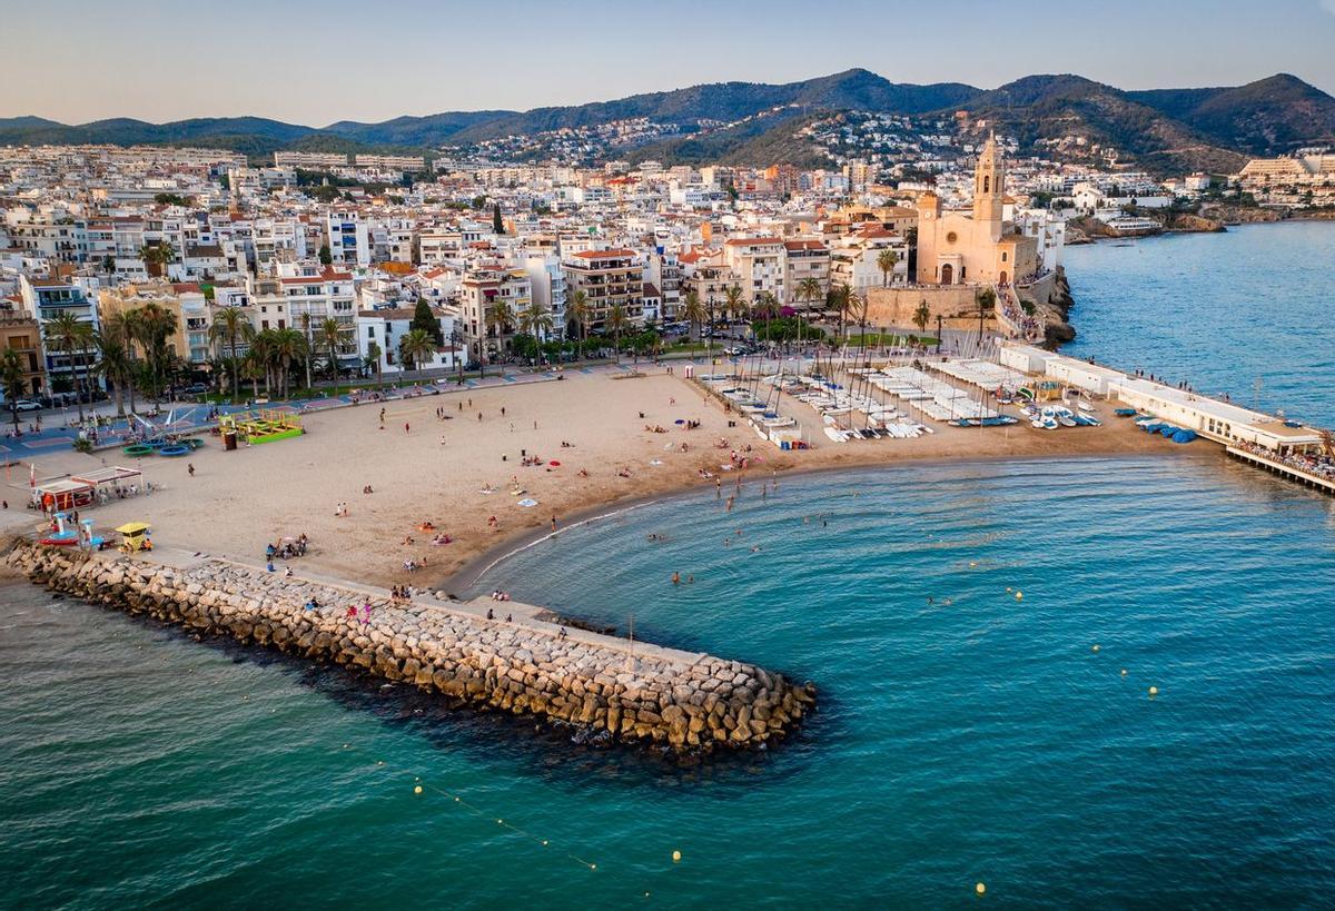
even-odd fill
[{"label": "dark green range of hills behind the white town", "polygon": [[252,156],[276,150],[422,151],[645,118],[677,135],[653,142],[637,158],[812,164],[820,159],[818,150],[800,142],[794,131],[821,114],[948,118],[959,110],[968,111],[975,124],[1013,135],[1025,150],[1081,136],[1161,172],[1235,170],[1246,156],[1335,143],[1335,98],[1287,73],[1236,87],[1123,91],[1075,75],[1025,76],[983,89],[960,83],[892,83],[866,69],[849,69],[784,84],[713,83],[579,106],[454,111],[380,123],[340,120],[326,127],[264,118],[162,124],[116,118],[71,126],[23,116],[0,119],[0,144],[195,144]]}]

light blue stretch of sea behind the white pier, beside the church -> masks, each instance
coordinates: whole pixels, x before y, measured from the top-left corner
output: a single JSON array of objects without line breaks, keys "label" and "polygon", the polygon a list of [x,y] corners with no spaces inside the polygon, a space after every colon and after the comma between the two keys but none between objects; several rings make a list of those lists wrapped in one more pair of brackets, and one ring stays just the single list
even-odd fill
[{"label": "light blue stretch of sea behind the white pier, beside the church", "polygon": [[1067,250],[1073,357],[1335,426],[1335,222]]}]

